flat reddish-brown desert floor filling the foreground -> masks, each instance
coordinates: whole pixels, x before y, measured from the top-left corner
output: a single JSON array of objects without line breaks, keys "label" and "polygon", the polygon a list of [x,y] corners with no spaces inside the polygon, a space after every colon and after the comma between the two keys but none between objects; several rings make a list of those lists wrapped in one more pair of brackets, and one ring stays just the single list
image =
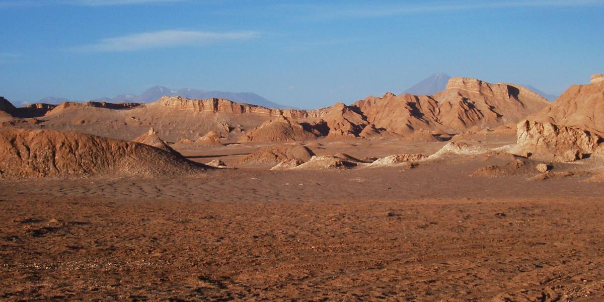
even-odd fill
[{"label": "flat reddish-brown desert floor filling the foreground", "polygon": [[0,298],[602,301],[604,187],[496,160],[2,181]]}]

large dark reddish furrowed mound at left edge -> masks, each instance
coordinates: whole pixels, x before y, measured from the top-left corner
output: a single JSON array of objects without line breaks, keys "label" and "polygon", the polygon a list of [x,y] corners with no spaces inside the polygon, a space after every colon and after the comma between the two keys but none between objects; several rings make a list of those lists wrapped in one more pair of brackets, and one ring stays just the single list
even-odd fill
[{"label": "large dark reddish furrowed mound at left edge", "polygon": [[129,141],[55,130],[0,129],[0,177],[159,176],[202,165]]}]

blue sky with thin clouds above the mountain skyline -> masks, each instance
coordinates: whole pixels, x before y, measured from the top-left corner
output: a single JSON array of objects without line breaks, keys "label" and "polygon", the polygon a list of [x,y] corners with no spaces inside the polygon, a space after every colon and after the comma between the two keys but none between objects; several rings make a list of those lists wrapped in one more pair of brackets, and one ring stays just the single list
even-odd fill
[{"label": "blue sky with thin clouds above the mountain skyline", "polygon": [[0,0],[0,95],[153,85],[318,108],[435,72],[559,94],[604,72],[604,0]]}]

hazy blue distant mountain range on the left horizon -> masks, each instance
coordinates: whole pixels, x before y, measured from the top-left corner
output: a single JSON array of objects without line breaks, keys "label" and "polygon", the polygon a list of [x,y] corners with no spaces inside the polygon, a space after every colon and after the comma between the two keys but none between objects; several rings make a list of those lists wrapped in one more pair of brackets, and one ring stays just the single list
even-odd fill
[{"label": "hazy blue distant mountain range on the left horizon", "polygon": [[[267,108],[288,109],[289,106],[277,104],[266,98],[261,97],[253,92],[228,92],[228,91],[205,91],[202,89],[182,88],[178,90],[169,89],[164,86],[153,86],[147,89],[140,95],[120,94],[114,98],[101,97],[91,101],[106,101],[108,103],[151,103],[158,100],[162,96],[169,97],[181,96],[185,98],[205,99],[205,98],[226,98],[227,100],[236,103],[254,104]],[[70,101],[66,98],[46,97],[42,98],[39,103],[60,104],[65,101]]]}]

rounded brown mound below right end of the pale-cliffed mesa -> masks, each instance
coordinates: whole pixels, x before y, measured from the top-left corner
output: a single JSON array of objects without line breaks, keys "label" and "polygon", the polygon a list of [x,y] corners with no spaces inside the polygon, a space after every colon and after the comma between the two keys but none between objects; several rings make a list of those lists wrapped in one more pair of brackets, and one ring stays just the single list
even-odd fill
[{"label": "rounded brown mound below right end of the pale-cliffed mesa", "polygon": [[248,141],[304,141],[316,137],[315,133],[304,129],[297,121],[281,115],[243,134],[239,138],[239,143]]}]

